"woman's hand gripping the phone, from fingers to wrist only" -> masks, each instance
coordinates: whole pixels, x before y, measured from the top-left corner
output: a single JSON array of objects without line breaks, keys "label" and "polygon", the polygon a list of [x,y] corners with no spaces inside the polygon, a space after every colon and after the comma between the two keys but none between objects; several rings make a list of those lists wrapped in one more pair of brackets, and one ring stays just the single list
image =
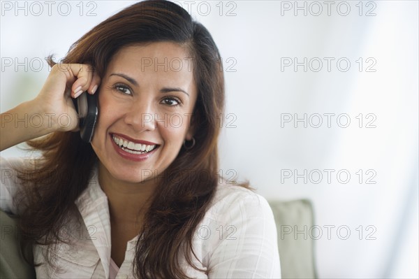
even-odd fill
[{"label": "woman's hand gripping the phone, from fingers to wrist only", "polygon": [[55,64],[34,106],[50,116],[53,131],[77,131],[78,114],[71,98],[85,91],[94,94],[101,82],[87,64]]}]

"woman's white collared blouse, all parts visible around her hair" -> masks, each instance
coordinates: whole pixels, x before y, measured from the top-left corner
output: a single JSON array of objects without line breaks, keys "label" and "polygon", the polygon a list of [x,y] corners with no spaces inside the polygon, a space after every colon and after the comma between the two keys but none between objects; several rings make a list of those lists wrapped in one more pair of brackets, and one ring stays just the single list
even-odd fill
[{"label": "woman's white collared blouse, all parts visible around her hair", "polygon": [[[1,157],[0,208],[18,214],[13,196],[19,180],[12,166],[22,167],[28,159]],[[119,270],[111,265],[108,197],[98,183],[95,167],[87,189],[75,201],[85,227],[63,228],[74,245],[59,244],[57,265],[36,267],[37,278],[133,278],[133,258],[138,236],[128,241]],[[272,210],[260,195],[222,182],[193,237],[193,263],[182,257],[181,265],[191,278],[281,278],[277,227]],[[34,245],[35,262],[43,262],[46,248]],[[115,263],[114,263],[115,264]],[[115,269],[116,267],[116,269]],[[113,273],[113,274],[112,274]],[[115,274],[116,273],[116,274]],[[115,277],[113,277],[115,276]]]}]

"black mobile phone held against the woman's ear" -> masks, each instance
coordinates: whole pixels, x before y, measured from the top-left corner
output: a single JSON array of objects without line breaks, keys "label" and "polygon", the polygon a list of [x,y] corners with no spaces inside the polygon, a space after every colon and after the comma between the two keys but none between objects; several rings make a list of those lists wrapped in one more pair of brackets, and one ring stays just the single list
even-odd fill
[{"label": "black mobile phone held against the woman's ear", "polygon": [[97,94],[83,92],[77,99],[73,99],[73,103],[79,116],[80,137],[89,143],[98,119]]}]

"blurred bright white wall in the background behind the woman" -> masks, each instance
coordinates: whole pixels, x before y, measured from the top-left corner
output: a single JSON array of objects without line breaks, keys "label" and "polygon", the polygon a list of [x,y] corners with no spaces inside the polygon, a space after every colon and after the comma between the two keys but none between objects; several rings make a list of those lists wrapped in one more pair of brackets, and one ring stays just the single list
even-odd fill
[{"label": "blurred bright white wall in the background behind the woman", "polygon": [[[45,62],[38,71],[40,59],[64,57],[82,34],[133,3],[52,2],[51,15],[45,1],[1,3],[2,112],[36,96],[49,71]],[[313,201],[323,229],[316,241],[321,278],[418,278],[418,2],[180,4],[210,30],[226,68],[221,171],[249,179],[267,199]],[[307,15],[295,10],[304,5]],[[87,16],[90,9],[96,15]],[[304,57],[307,71],[284,66]],[[316,72],[319,61],[323,68]],[[344,71],[346,61],[351,65]],[[304,114],[307,127],[293,122]],[[323,124],[316,128],[318,115]],[[340,127],[346,119],[348,127]],[[1,152],[18,154],[16,148]],[[294,170],[302,174],[296,181]],[[343,240],[345,229],[351,235]]]}]

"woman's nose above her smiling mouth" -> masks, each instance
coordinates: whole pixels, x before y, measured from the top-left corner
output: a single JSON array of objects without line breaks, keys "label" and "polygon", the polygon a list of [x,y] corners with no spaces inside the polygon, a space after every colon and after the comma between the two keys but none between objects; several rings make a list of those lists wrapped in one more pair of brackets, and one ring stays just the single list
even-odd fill
[{"label": "woman's nose above her smiling mouth", "polygon": [[144,99],[133,101],[125,114],[124,122],[136,132],[153,131],[156,129],[152,103]]}]

